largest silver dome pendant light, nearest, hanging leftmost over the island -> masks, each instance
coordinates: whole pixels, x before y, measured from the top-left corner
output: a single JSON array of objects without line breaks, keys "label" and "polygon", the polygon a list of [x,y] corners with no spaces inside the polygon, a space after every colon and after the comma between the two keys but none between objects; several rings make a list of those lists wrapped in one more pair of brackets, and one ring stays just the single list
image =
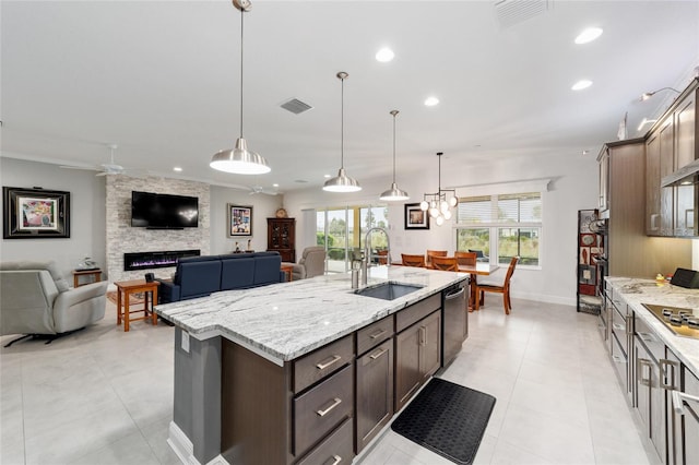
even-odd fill
[{"label": "largest silver dome pendant light, nearest, hanging leftmost over the island", "polygon": [[250,0],[233,0],[233,5],[240,10],[240,136],[234,148],[214,154],[209,166],[218,171],[236,175],[263,175],[270,172],[272,168],[263,156],[248,150],[248,143],[242,138],[242,17],[252,5]]}]

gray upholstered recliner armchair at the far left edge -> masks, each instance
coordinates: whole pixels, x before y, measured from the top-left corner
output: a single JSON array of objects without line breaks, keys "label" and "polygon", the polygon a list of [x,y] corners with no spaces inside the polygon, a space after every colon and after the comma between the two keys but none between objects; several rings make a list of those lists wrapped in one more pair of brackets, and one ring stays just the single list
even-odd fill
[{"label": "gray upholstered recliner armchair at the far left edge", "polygon": [[0,335],[58,336],[99,321],[107,285],[69,288],[54,262],[0,263]]}]

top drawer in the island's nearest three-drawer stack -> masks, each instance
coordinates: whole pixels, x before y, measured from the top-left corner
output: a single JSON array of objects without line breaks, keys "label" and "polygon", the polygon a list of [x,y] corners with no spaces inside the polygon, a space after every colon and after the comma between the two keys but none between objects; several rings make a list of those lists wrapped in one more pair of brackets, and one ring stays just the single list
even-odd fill
[{"label": "top drawer in the island's nearest three-drawer stack", "polygon": [[294,393],[342,368],[354,358],[353,336],[348,335],[315,350],[294,362]]}]

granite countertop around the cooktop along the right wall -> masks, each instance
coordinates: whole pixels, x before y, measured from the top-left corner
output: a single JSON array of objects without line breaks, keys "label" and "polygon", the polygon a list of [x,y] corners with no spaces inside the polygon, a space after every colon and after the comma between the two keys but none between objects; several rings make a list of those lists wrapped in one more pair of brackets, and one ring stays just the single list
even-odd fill
[{"label": "granite countertop around the cooktop along the right wall", "polygon": [[636,315],[643,319],[657,336],[695,374],[699,375],[699,339],[677,336],[665,323],[641,303],[655,303],[668,307],[699,309],[699,290],[673,286],[670,283],[656,284],[654,279],[629,277],[606,277],[614,287],[614,293],[621,295],[626,303],[631,306]]}]

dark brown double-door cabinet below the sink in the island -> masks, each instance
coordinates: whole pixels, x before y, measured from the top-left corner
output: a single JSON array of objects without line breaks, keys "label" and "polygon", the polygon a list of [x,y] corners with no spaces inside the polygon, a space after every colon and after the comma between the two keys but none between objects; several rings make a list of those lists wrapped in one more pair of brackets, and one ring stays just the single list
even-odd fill
[{"label": "dark brown double-door cabinet below the sink in the island", "polygon": [[395,409],[400,410],[441,365],[441,312],[395,336]]}]

